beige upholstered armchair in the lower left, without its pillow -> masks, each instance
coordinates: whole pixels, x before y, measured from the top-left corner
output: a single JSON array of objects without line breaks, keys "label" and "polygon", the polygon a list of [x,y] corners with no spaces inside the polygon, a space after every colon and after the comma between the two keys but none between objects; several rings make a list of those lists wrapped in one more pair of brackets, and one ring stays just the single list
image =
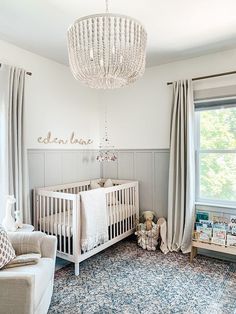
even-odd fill
[{"label": "beige upholstered armchair in the lower left, without its pillow", "polygon": [[56,237],[9,233],[16,254],[40,253],[35,265],[0,270],[0,314],[46,314],[51,302]]}]

